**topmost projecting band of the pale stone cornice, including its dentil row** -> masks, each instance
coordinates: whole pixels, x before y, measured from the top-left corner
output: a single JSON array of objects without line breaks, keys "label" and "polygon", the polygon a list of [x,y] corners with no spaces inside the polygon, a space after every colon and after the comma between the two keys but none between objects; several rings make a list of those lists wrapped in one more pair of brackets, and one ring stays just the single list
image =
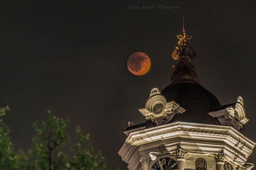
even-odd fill
[{"label": "topmost projecting band of the pale stone cornice, including its dentil row", "polygon": [[203,134],[204,136],[209,137],[226,135],[236,140],[239,144],[244,145],[246,148],[252,149],[255,146],[254,142],[247,139],[232,126],[199,124],[191,122],[173,122],[139,130],[137,132],[131,132],[125,142],[132,145],[141,145],[150,143],[152,141],[167,139],[168,137],[172,137],[173,133],[176,132],[195,133],[195,137],[197,134]]}]

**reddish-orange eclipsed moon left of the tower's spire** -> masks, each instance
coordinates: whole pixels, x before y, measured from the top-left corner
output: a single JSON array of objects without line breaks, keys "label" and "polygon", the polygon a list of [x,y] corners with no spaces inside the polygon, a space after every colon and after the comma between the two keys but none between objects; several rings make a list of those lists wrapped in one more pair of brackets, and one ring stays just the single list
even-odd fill
[{"label": "reddish-orange eclipsed moon left of the tower's spire", "polygon": [[134,75],[143,75],[147,73],[150,64],[149,57],[142,52],[133,53],[127,60],[127,67]]}]

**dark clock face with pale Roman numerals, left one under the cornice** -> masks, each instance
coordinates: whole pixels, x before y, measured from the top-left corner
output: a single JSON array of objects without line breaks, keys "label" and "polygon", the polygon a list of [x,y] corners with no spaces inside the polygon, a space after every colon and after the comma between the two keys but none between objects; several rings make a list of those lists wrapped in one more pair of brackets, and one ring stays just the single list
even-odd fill
[{"label": "dark clock face with pale Roman numerals, left one under the cornice", "polygon": [[178,164],[173,159],[165,157],[158,159],[151,170],[178,170]]}]

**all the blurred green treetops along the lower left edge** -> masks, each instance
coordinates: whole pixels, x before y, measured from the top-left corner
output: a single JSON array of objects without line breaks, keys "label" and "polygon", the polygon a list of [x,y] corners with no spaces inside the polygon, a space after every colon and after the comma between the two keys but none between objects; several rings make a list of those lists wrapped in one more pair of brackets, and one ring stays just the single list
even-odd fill
[{"label": "all the blurred green treetops along the lower left edge", "polygon": [[[0,108],[0,116],[6,114],[6,108]],[[65,135],[67,119],[55,117],[48,111],[46,122],[33,124],[37,134],[32,139],[32,147],[28,154],[21,149],[16,153],[8,136],[9,128],[0,119],[0,170],[106,170],[106,162],[101,153],[95,154],[89,143],[89,134],[83,134],[80,127],[76,128],[76,144],[71,147],[76,153],[69,157],[57,152],[60,146],[68,143]]]}]

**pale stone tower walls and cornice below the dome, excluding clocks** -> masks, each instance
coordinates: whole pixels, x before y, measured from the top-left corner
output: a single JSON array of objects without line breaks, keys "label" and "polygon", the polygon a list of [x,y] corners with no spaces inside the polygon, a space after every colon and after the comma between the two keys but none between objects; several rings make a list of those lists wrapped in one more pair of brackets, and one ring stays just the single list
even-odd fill
[{"label": "pale stone tower walls and cornice below the dome, excluding clocks", "polygon": [[[198,158],[206,161],[208,170],[223,170],[224,163],[229,163],[236,170],[243,168],[254,146],[254,142],[232,126],[173,122],[148,129],[142,127],[130,130],[118,153],[128,163],[129,170],[141,170],[140,160],[150,159],[150,152],[160,154],[155,154],[155,161],[149,161],[149,170],[163,157],[174,159],[180,168],[183,164],[185,170],[196,170]],[[184,157],[179,157],[178,149],[186,151]]]}]

